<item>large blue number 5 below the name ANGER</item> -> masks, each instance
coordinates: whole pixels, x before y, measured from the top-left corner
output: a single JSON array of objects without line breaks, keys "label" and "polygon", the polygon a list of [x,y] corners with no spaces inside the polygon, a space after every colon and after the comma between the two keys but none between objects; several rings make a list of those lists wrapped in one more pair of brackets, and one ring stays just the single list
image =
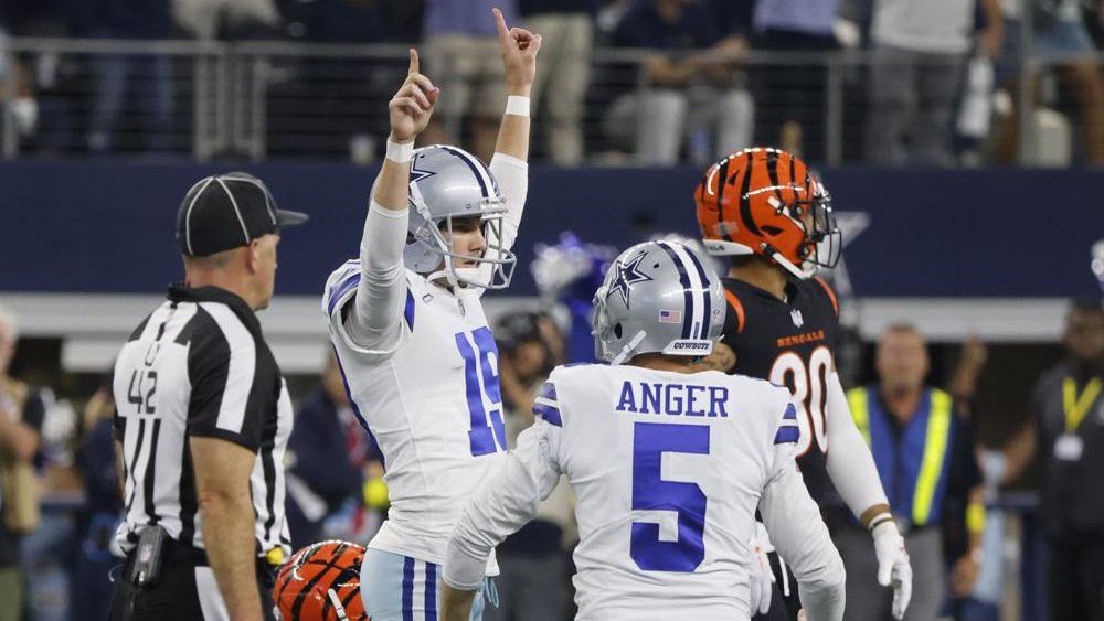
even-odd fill
[{"label": "large blue number 5 below the name ANGER", "polygon": [[664,481],[665,452],[709,454],[709,427],[637,422],[633,437],[633,510],[673,511],[678,537],[659,538],[659,524],[633,523],[629,554],[645,571],[689,574],[705,558],[705,493],[697,483]]}]

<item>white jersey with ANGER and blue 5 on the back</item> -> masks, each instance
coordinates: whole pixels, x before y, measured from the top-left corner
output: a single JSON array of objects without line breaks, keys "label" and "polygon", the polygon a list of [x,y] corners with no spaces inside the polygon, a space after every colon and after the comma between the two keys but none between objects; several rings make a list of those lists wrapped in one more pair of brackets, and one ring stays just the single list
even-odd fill
[{"label": "white jersey with ANGER and blue 5 on the back", "polygon": [[576,619],[747,619],[756,507],[803,586],[842,570],[794,462],[785,388],[581,365],[555,370],[533,410],[537,422],[457,524],[444,568],[454,587],[474,586],[481,557],[560,473],[577,497]]}]

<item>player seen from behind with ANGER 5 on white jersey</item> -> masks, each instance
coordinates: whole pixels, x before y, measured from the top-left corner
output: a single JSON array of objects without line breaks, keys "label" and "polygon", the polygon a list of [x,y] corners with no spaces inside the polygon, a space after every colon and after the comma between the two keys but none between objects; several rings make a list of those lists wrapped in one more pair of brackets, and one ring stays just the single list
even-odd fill
[{"label": "player seen from behind with ANGER 5 on white jersey", "polygon": [[576,619],[746,621],[756,507],[807,618],[842,618],[843,564],[797,472],[789,392],[694,372],[723,323],[720,278],[686,246],[617,258],[594,296],[596,355],[611,364],[555,368],[533,426],[467,503],[445,557],[445,620],[467,619],[491,550],[561,474],[577,496]]}]

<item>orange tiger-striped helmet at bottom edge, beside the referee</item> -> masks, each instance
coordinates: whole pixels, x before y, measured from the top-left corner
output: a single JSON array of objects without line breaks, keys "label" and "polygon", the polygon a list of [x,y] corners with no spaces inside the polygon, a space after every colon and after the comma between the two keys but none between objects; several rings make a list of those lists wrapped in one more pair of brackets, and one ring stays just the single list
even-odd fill
[{"label": "orange tiger-striped helmet at bottom edge, beside the referee", "polygon": [[348,542],[320,542],[295,553],[280,567],[273,587],[280,619],[369,621],[360,597],[363,560],[364,547]]}]

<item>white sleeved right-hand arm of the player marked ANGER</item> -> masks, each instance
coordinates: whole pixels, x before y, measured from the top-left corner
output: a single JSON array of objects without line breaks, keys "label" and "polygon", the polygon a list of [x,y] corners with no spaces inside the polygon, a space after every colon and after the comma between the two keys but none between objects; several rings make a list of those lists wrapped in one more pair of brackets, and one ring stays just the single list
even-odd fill
[{"label": "white sleeved right-hand arm of the player marked ANGER", "polygon": [[773,472],[760,499],[760,512],[775,549],[797,577],[809,621],[839,621],[845,603],[843,561],[797,471],[796,437],[782,433],[787,428],[784,422],[775,436]]}]

